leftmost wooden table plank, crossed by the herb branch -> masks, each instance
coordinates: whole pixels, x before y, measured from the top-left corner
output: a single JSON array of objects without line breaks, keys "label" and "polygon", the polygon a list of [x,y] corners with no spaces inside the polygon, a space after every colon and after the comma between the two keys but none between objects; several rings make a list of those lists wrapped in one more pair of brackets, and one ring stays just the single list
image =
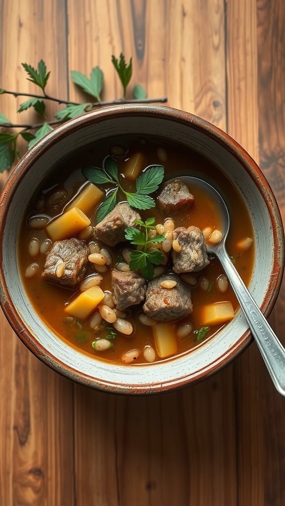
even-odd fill
[{"label": "leftmost wooden table plank, crossed by the herb branch", "polygon": [[[43,58],[52,72],[49,93],[67,94],[64,4],[1,1],[0,12],[1,86],[36,92],[21,62],[37,66]],[[0,110],[12,121],[38,122],[31,111],[17,117],[24,100],[2,95]],[[24,347],[2,313],[0,334],[0,503],[72,506],[73,385]]]}]

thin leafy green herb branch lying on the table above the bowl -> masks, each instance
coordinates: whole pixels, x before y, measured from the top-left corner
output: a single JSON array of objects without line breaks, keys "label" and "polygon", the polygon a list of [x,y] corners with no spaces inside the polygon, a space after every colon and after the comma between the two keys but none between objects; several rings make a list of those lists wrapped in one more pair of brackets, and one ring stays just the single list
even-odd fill
[{"label": "thin leafy green herb branch lying on the table above the bowl", "polygon": [[[129,63],[126,63],[124,55],[121,53],[117,59],[114,55],[112,56],[112,64],[118,74],[121,85],[123,87],[123,96],[121,99],[115,99],[113,101],[103,102],[101,101],[101,92],[103,89],[103,71],[98,67],[93,67],[90,76],[87,77],[82,72],[72,70],[70,73],[72,81],[77,85],[84,93],[87,94],[88,98],[92,98],[92,101],[73,102],[70,100],[60,99],[58,97],[52,97],[46,93],[46,87],[50,78],[50,72],[47,71],[46,64],[43,60],[38,63],[38,67],[34,68],[27,63],[22,63],[22,67],[27,73],[27,80],[31,81],[35,86],[38,86],[41,90],[41,94],[32,94],[25,92],[14,92],[6,90],[0,85],[0,95],[13,95],[17,97],[30,97],[28,100],[23,102],[18,113],[26,111],[32,108],[37,113],[42,121],[39,123],[26,124],[26,123],[12,123],[0,111],[0,172],[9,170],[15,160],[19,157],[19,151],[17,149],[17,140],[22,137],[28,143],[28,149],[30,149],[36,142],[42,139],[45,135],[53,130],[54,124],[62,123],[68,119],[75,118],[84,112],[91,111],[92,109],[105,105],[113,105],[118,103],[152,103],[152,102],[166,102],[166,97],[148,99],[146,91],[140,85],[134,86],[132,89],[132,99],[126,99],[126,90],[129,85],[132,76],[132,58]],[[50,120],[46,115],[46,101],[56,102],[57,104],[63,104],[61,110],[54,114],[56,119]],[[19,129],[19,132],[8,133],[3,129]],[[29,132],[34,131],[33,133]]]}]

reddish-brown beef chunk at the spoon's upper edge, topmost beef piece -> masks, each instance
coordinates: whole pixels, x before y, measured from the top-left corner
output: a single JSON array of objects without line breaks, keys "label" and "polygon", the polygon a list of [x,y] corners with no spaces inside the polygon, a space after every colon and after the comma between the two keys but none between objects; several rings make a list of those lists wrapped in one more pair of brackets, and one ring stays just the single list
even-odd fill
[{"label": "reddish-brown beef chunk at the spoon's upper edge, topmost beef piece", "polygon": [[175,215],[194,203],[194,197],[180,179],[167,183],[157,197],[158,206],[164,216]]}]

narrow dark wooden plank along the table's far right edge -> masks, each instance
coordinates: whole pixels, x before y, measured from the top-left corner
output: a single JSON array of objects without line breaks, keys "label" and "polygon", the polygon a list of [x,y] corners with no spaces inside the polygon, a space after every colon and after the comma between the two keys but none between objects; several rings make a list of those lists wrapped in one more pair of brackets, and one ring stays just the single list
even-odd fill
[{"label": "narrow dark wooden plank along the table's far right edge", "polygon": [[[260,166],[285,219],[285,4],[282,0],[257,0],[258,36],[258,107]],[[282,283],[270,316],[273,330],[285,346],[285,284]],[[264,504],[285,503],[285,404],[271,382],[262,384],[264,413]]]}]

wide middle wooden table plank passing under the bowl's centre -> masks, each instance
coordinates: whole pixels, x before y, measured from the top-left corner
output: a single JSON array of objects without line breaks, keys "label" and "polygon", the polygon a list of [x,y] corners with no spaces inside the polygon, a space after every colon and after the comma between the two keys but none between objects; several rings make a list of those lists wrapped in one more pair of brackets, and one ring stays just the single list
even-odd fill
[{"label": "wide middle wooden table plank passing under the bowl's centre", "polygon": [[[123,51],[133,57],[132,85],[139,82],[149,97],[167,95],[168,105],[226,127],[223,2],[69,0],[67,6],[70,69],[89,73],[99,65],[104,100],[120,97],[109,61]],[[78,29],[85,33],[80,47]],[[81,96],[74,87],[70,94]],[[234,506],[233,392],[232,366],[200,385],[155,397],[76,386],[78,506]]]}]

